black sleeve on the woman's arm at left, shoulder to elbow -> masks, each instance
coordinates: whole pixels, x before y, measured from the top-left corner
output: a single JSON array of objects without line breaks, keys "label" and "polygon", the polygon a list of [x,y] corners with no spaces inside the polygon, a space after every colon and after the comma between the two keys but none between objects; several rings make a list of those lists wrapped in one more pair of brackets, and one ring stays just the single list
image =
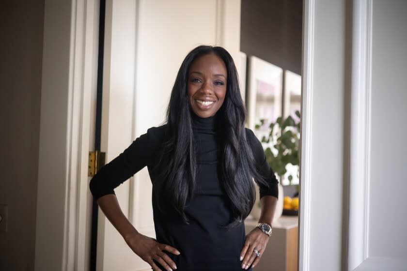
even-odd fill
[{"label": "black sleeve on the woman's arm at left, shoulder to elbow", "polygon": [[[161,126],[162,127],[162,126]],[[160,127],[152,127],[140,135],[127,149],[105,166],[102,166],[89,183],[95,199],[115,194],[114,188],[128,180],[144,166],[149,165],[159,149]]]}]

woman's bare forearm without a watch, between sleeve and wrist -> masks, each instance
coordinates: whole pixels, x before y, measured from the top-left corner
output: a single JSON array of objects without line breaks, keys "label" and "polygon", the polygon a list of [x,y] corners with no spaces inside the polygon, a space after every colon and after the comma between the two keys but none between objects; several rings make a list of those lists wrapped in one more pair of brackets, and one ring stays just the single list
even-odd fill
[{"label": "woman's bare forearm without a watch, between sleeve and wrist", "polygon": [[124,239],[129,234],[138,233],[130,221],[125,217],[116,195],[109,194],[101,196],[97,199],[97,204],[109,219],[110,223],[117,229]]}]

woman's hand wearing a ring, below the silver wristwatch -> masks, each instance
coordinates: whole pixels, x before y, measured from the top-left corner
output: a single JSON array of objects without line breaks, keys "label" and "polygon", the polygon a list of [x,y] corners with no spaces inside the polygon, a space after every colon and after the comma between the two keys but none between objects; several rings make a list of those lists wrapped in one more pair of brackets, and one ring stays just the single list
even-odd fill
[{"label": "woman's hand wearing a ring, below the silver wristwatch", "polygon": [[[250,265],[251,267],[257,265],[266,249],[268,239],[268,235],[262,232],[258,227],[255,227],[248,235],[246,235],[246,241],[242,252],[240,253],[240,260],[243,260],[243,269],[249,269]],[[260,253],[260,256],[256,256],[254,250],[257,250]]]}]

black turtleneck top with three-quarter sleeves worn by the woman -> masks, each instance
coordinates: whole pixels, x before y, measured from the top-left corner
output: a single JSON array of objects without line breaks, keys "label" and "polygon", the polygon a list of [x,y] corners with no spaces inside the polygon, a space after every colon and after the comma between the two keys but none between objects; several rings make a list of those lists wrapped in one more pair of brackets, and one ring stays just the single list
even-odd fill
[{"label": "black turtleneck top with three-quarter sleeves worn by the woman", "polygon": [[[175,247],[181,253],[176,256],[164,251],[175,262],[177,270],[242,270],[239,257],[245,241],[244,223],[233,228],[219,226],[230,223],[232,216],[217,170],[220,160],[219,140],[215,129],[216,116],[201,118],[192,113],[192,117],[197,153],[197,185],[195,194],[185,210],[190,224],[184,224],[176,216],[159,211],[153,195],[156,239],[160,243]],[[144,166],[147,166],[152,184],[155,185],[158,173],[153,168],[164,140],[165,125],[148,129],[146,134],[134,140],[125,151],[96,173],[90,182],[91,192],[96,199],[114,194],[115,187]],[[266,162],[260,141],[250,129],[246,129],[246,135],[256,167],[271,184],[271,188],[259,185],[260,197],[278,197],[278,181]],[[157,265],[161,270],[165,270],[158,263]]]}]

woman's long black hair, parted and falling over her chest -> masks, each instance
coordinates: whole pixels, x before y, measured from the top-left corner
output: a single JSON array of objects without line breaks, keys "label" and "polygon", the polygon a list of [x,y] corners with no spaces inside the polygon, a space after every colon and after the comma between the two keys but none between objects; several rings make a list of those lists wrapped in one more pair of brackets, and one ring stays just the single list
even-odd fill
[{"label": "woman's long black hair, parted and falling over her chest", "polygon": [[255,189],[252,179],[267,186],[268,183],[257,172],[246,139],[246,109],[240,94],[235,63],[231,55],[220,46],[198,46],[188,53],[181,64],[167,108],[168,136],[157,164],[161,174],[153,189],[160,210],[171,207],[188,224],[184,210],[194,194],[197,169],[187,93],[188,71],[194,60],[207,54],[217,55],[227,70],[226,96],[217,112],[217,133],[221,146],[219,178],[232,209],[233,221],[227,225],[230,227],[242,222],[253,207]]}]

